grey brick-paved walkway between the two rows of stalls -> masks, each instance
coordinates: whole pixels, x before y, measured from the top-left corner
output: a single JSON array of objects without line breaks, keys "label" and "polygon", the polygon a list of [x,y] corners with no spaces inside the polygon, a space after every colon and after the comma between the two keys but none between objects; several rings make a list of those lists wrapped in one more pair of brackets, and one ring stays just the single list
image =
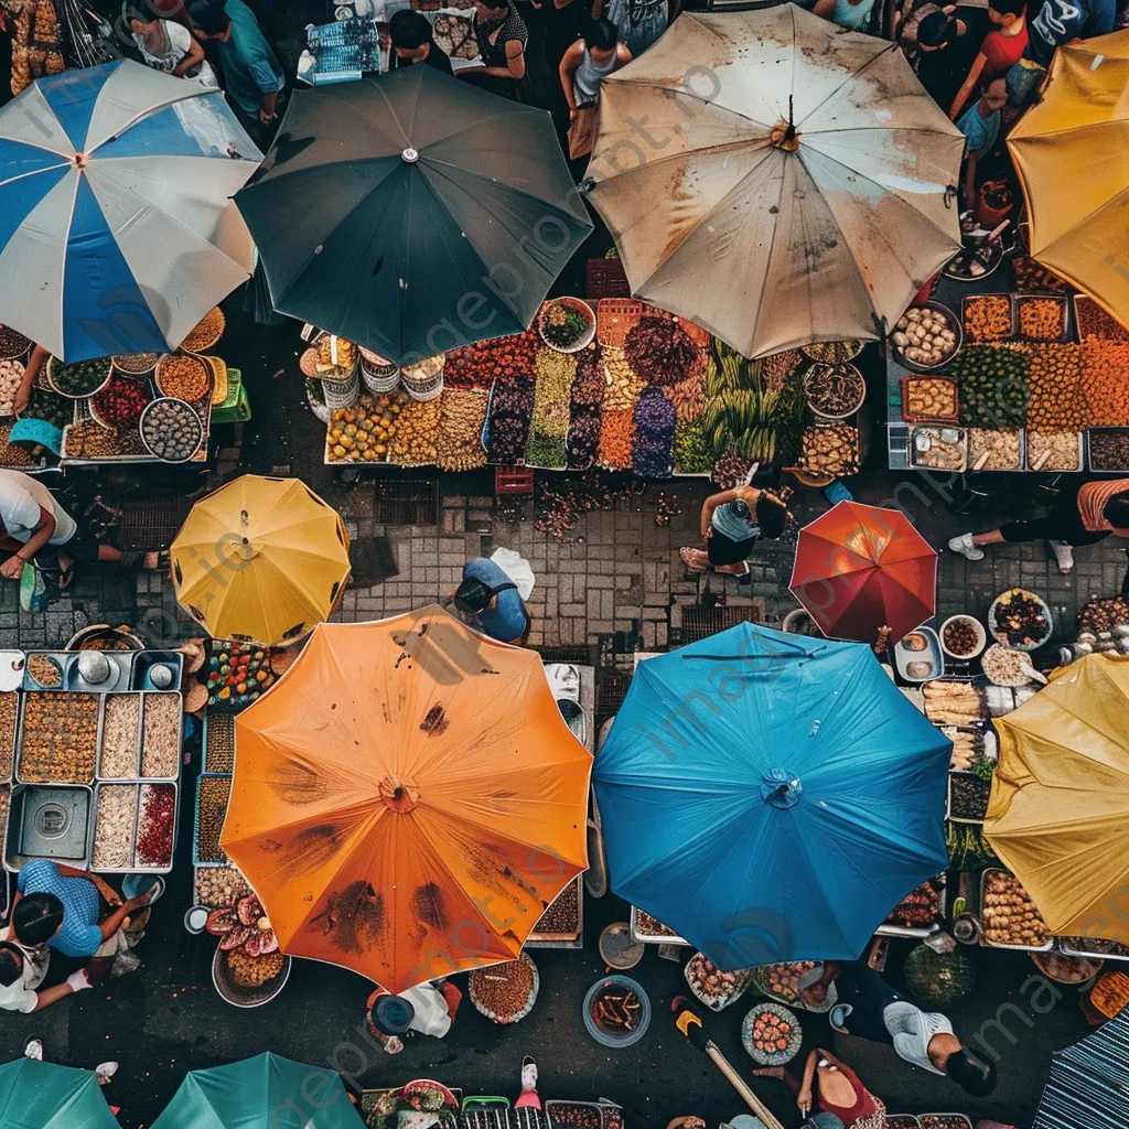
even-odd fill
[{"label": "grey brick-paved walkway between the two rows of stalls", "polygon": [[[989,516],[961,518],[948,513],[944,498],[913,478],[917,489],[895,490],[890,475],[856,484],[860,500],[893,497],[935,545],[944,545],[964,528],[994,524]],[[440,480],[440,489],[443,482]],[[679,497],[681,513],[668,525],[655,522],[659,490],[620,498],[613,509],[593,510],[562,541],[535,528],[534,504],[499,508],[490,497],[450,496],[440,502],[438,525],[383,526],[373,519],[375,487],[360,483],[342,493],[339,505],[355,539],[387,535],[399,575],[373,588],[350,589],[338,611],[342,620],[376,619],[431,602],[457,584],[463,561],[489,555],[505,545],[526,557],[537,576],[530,602],[534,647],[589,644],[605,664],[614,651],[625,663],[634,649],[662,649],[676,642],[684,609],[701,603],[729,607],[752,605],[752,614],[777,623],[795,602],[787,592],[795,533],[767,543],[754,558],[753,580],[738,587],[733,578],[688,577],[679,546],[697,541],[698,513],[706,488],[697,480],[667,485]],[[826,508],[822,493],[802,491],[793,499],[797,524]],[[1036,513],[1027,507],[1029,513]],[[938,615],[956,611],[983,614],[990,601],[1013,585],[1048,599],[1064,625],[1073,624],[1078,606],[1091,595],[1113,595],[1121,585],[1126,555],[1117,541],[1079,550],[1075,574],[1061,577],[1047,546],[1003,545],[979,563],[943,552],[938,579]],[[0,637],[23,647],[60,646],[87,623],[140,623],[157,641],[186,637],[192,624],[177,615],[167,578],[137,578],[105,572],[81,578],[71,598],[46,614],[19,612],[16,586],[0,586]],[[598,651],[597,648],[598,647]]]}]

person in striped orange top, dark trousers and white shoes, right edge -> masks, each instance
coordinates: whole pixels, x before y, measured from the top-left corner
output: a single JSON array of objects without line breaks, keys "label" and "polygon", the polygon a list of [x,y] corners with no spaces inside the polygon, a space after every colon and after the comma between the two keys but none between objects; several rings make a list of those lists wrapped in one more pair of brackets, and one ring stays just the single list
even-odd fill
[{"label": "person in striped orange top, dark trousers and white shoes, right edge", "polygon": [[1045,517],[1007,522],[987,533],[962,533],[948,542],[948,548],[970,561],[979,561],[984,555],[981,545],[1045,540],[1054,552],[1059,571],[1067,574],[1074,568],[1077,546],[1097,544],[1111,533],[1129,537],[1129,479],[1071,483],[1059,490]]}]

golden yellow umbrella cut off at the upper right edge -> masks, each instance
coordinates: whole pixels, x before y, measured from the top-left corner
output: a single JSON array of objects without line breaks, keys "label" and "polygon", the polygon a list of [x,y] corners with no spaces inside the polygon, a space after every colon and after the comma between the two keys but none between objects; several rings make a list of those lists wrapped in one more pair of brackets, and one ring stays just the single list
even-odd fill
[{"label": "golden yellow umbrella cut off at the upper right edge", "polygon": [[1059,47],[1007,145],[1032,255],[1129,325],[1129,30]]}]

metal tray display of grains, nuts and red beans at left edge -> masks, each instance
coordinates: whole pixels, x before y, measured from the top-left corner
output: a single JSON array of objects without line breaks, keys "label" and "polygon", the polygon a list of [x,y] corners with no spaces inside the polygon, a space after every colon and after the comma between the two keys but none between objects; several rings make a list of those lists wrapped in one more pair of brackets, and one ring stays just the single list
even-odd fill
[{"label": "metal tray display of grains, nuts and red beans at left edge", "polygon": [[3,653],[0,843],[7,870],[17,873],[32,858],[102,874],[172,869],[182,664],[172,651]]}]

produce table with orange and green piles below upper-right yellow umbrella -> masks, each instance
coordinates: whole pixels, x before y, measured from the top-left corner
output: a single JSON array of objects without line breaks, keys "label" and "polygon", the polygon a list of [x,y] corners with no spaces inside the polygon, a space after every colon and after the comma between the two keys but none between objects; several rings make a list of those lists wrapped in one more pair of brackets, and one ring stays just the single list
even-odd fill
[{"label": "produce table with orange and green piles below upper-right yellow umbrella", "polygon": [[[1022,252],[968,282],[942,274],[929,301],[952,314],[963,344],[913,370],[887,342],[892,470],[1129,469],[1129,330]],[[903,383],[930,377],[955,384],[955,419],[944,405],[907,418]],[[922,434],[942,465],[927,465]]]}]

